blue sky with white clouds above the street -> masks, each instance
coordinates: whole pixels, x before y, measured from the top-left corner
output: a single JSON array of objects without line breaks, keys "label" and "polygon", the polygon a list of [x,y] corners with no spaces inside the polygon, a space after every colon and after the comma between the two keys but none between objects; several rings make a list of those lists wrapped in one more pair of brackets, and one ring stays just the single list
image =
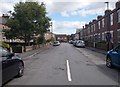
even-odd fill
[{"label": "blue sky with white clouds above the street", "polygon": [[[0,16],[12,10],[16,3],[25,0],[0,0]],[[104,15],[106,4],[114,9],[117,0],[27,0],[46,4],[48,16],[53,22],[53,32],[57,34],[72,34],[77,28]]]}]

